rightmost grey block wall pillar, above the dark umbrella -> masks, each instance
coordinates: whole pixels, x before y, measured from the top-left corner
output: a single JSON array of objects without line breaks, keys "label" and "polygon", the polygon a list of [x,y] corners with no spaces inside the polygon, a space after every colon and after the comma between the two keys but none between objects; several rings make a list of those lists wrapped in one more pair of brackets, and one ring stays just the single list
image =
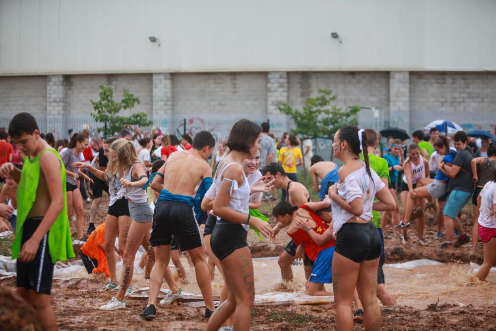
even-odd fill
[{"label": "rightmost grey block wall pillar, above the dark umbrella", "polygon": [[389,122],[410,134],[410,72],[389,73]]}]

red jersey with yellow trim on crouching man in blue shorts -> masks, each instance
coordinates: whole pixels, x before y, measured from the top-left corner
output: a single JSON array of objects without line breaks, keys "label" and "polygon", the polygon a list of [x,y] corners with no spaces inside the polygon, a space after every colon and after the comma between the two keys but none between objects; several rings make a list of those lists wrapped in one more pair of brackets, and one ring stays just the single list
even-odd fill
[{"label": "red jersey with yellow trim on crouching man in blue shorts", "polygon": [[[303,208],[307,210],[310,213],[311,218],[317,223],[313,230],[318,233],[322,234],[324,233],[325,230],[329,228],[327,223],[325,223],[320,216],[318,216],[315,211],[311,210],[309,206],[307,205],[302,205],[300,208]],[[333,239],[329,240],[328,243],[326,243],[324,246],[318,246],[313,242],[311,239],[310,235],[303,231],[302,229],[296,230],[294,233],[288,233],[288,235],[293,239],[295,242],[296,246],[300,246],[301,243],[303,243],[303,247],[305,248],[305,253],[309,257],[311,261],[315,261],[317,259],[318,253],[321,251],[325,250],[326,248],[332,247],[336,244],[336,241]]]}]

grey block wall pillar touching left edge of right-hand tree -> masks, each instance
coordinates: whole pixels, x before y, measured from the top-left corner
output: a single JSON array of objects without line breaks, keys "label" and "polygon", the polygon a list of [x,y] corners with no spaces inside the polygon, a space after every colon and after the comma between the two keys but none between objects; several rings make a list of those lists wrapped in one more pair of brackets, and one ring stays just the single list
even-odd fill
[{"label": "grey block wall pillar touching left edge of right-hand tree", "polygon": [[276,136],[288,131],[290,119],[278,109],[286,102],[288,102],[287,72],[267,72],[267,118],[270,121],[270,130]]}]

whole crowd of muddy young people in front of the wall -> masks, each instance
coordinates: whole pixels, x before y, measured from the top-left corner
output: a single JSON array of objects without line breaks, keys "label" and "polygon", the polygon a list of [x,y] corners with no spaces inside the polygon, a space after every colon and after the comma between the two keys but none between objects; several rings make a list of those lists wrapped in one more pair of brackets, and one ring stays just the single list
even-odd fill
[{"label": "whole crowd of muddy young people in front of the wall", "polygon": [[[8,132],[0,131],[0,232],[15,233],[17,294],[34,306],[47,329],[56,330],[54,264],[74,258],[73,245],[79,245],[88,273],[115,292],[97,308],[125,308],[142,246],[149,298],[136,314],[150,321],[164,279],[170,291],[160,305],[183,296],[169,267],[172,259],[180,282],[187,281],[182,251],[205,301],[206,330],[249,330],[256,284],[247,233],[253,229],[260,239],[277,242],[285,229],[291,240],[278,260],[283,281],[293,280],[292,265],[303,259],[307,292],[334,295],[340,330],[352,330],[355,319],[363,319],[366,330],[378,330],[376,299],[395,304],[384,285],[384,236],[411,240],[407,231],[417,219],[417,242],[425,245],[426,208],[436,211],[441,249],[470,242],[476,248],[482,240],[478,278],[484,280],[496,260],[496,147],[485,141],[474,151],[477,145],[465,132],[449,138],[434,128],[429,135],[424,141],[424,132],[413,132],[408,145],[388,138],[382,148],[374,130],[342,127],[332,144],[333,157],[343,164],[338,167],[313,154],[310,139],[304,139],[303,152],[293,134],[277,141],[268,123],[240,120],[227,141],[215,141],[206,131],[181,139],[152,132],[150,138],[139,128],[105,139],[83,131],[64,141],[43,136],[30,114],[17,114]],[[298,182],[301,165],[310,172],[311,188]],[[95,227],[103,192],[110,197],[108,211]],[[460,222],[471,198],[472,241]],[[263,200],[277,201],[274,227],[258,210]],[[85,201],[91,202],[86,235]],[[211,286],[216,267],[223,277],[218,306]],[[332,293],[325,289],[331,283]]]}]

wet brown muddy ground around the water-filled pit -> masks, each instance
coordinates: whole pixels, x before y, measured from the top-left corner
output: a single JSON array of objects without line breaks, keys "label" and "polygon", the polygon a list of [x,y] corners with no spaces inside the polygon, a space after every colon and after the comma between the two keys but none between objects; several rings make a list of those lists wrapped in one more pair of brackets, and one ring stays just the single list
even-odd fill
[{"label": "wet brown muddy ground around the water-filled pit", "polygon": [[[86,204],[85,229],[89,222],[89,206],[90,204]],[[263,208],[266,213],[270,209],[270,206]],[[104,221],[106,211],[107,200],[104,199],[98,212],[97,225]],[[434,239],[436,233],[434,215],[429,211],[426,216],[427,244],[425,246],[417,244],[415,222],[412,230],[409,231],[411,240],[405,245],[401,244],[395,231],[386,231],[389,237],[385,241],[386,263],[416,259],[479,264],[482,262],[481,242],[475,254],[472,253],[470,244],[449,251],[440,250],[441,241]],[[471,210],[467,208],[462,217],[462,223],[469,231],[471,218]],[[286,233],[280,233],[277,239],[280,241],[279,244],[260,242],[250,231],[248,242],[253,257],[280,254],[289,239]],[[76,247],[74,251],[77,251]],[[6,253],[8,252],[3,252],[3,255]],[[5,279],[0,283],[7,289],[15,288],[15,278]],[[159,307],[159,315],[155,321],[143,322],[139,318],[139,313],[146,304],[145,299],[127,299],[125,310],[111,312],[96,310],[95,306],[105,304],[108,300],[108,293],[104,292],[101,286],[101,283],[93,279],[54,280],[52,301],[61,330],[203,330],[206,325],[203,309],[183,305]],[[496,330],[496,308],[493,306],[460,307],[433,302],[423,309],[393,306],[381,307],[381,310],[383,330]],[[251,330],[336,329],[335,306],[332,303],[316,306],[255,307],[251,315]],[[355,330],[363,329],[363,323],[355,323]]]}]

